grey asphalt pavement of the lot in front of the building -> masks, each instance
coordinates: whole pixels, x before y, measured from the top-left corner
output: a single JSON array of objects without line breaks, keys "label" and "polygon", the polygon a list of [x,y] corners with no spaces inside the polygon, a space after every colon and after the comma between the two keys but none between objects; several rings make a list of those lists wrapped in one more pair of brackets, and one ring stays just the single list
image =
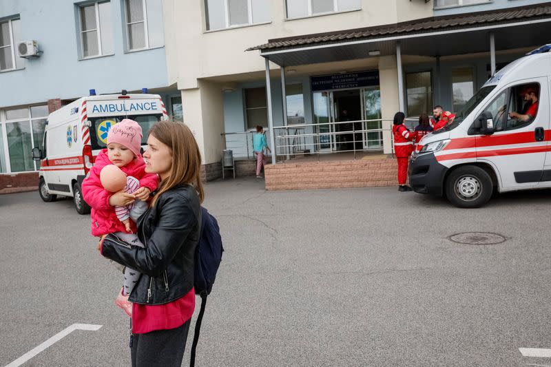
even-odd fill
[{"label": "grey asphalt pavement of the lot in front of the building", "polygon": [[[207,184],[225,253],[197,366],[551,366],[551,191],[481,209],[395,187],[264,191]],[[489,232],[506,241],[458,244]],[[0,196],[0,366],[129,366],[122,284],[89,216],[37,192]],[[183,366],[189,364],[190,328]]]}]

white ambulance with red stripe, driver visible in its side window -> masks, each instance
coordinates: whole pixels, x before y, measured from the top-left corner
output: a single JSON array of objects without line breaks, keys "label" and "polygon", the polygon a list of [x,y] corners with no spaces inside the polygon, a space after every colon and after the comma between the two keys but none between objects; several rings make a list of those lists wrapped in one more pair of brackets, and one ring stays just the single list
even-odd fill
[{"label": "white ambulance with red stripe, driver visible in its side window", "polygon": [[494,192],[551,187],[550,50],[504,67],[455,120],[422,138],[410,160],[414,191],[473,208]]}]

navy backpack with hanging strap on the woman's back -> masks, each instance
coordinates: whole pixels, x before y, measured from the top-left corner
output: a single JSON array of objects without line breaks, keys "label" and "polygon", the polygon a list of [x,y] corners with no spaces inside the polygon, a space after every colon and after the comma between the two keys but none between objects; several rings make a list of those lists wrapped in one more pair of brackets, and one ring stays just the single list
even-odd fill
[{"label": "navy backpack with hanging strap on the woman's back", "polygon": [[195,366],[195,351],[199,339],[202,315],[205,313],[207,295],[211,293],[212,284],[216,278],[216,271],[222,261],[222,237],[216,218],[201,207],[201,235],[195,253],[195,293],[201,297],[201,311],[195,324],[194,343],[191,345],[190,366]]}]

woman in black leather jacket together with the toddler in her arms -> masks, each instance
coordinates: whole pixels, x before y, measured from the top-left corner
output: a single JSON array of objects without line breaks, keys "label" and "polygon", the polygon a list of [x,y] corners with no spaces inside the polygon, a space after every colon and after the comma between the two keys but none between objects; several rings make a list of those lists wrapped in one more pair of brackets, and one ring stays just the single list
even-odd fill
[{"label": "woman in black leather jacket together with the toddler in her arms", "polygon": [[[186,125],[161,122],[149,131],[145,162],[141,136],[132,120],[110,129],[83,195],[92,207],[92,233],[101,236],[99,251],[125,266],[116,303],[132,317],[132,366],[180,366],[195,307],[194,253],[204,197],[200,152]],[[109,187],[113,181],[117,185]]]}]

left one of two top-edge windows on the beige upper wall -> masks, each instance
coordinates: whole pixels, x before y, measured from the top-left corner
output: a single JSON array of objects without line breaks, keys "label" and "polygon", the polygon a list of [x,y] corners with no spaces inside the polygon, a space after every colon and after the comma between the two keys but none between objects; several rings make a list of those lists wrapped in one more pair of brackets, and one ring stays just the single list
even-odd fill
[{"label": "left one of two top-edge windows on the beige upper wall", "polygon": [[205,0],[207,30],[270,21],[268,0]]}]

